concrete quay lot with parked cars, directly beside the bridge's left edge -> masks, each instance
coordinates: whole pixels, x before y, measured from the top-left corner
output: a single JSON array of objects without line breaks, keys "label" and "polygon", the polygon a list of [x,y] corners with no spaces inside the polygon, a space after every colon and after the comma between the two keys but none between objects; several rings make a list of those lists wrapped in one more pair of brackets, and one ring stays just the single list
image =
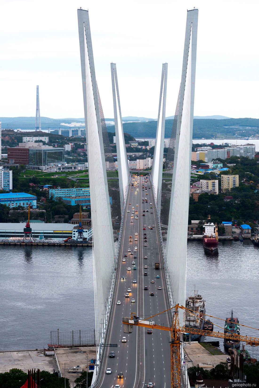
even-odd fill
[{"label": "concrete quay lot with parked cars, directly beside the bridge's left edge", "polygon": [[[80,365],[80,371],[86,371],[87,357],[88,363],[90,359],[96,358],[96,347],[82,347],[82,348],[61,348],[56,349],[57,360],[61,369],[62,376],[64,377],[65,364],[66,364],[66,378],[69,379],[71,386],[76,378],[80,376],[79,371],[77,373],[71,373],[74,366]],[[87,356],[88,355],[88,356]],[[72,367],[70,370],[68,368]]]}]

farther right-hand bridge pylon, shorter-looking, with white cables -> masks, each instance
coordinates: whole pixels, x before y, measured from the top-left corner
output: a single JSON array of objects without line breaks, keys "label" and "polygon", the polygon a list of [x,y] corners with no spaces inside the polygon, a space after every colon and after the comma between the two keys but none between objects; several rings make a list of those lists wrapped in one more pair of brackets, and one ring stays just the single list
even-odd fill
[{"label": "farther right-hand bridge pylon, shorter-looking, with white cables", "polygon": [[156,144],[155,144],[155,150],[154,150],[154,156],[153,156],[153,165],[151,170],[151,181],[153,185],[153,192],[156,199],[158,215],[160,214],[160,203],[161,203],[160,191],[162,186],[162,173],[163,173],[167,68],[168,68],[168,64],[163,63],[159,107],[158,107],[158,119],[157,119],[157,126],[156,126]]}]

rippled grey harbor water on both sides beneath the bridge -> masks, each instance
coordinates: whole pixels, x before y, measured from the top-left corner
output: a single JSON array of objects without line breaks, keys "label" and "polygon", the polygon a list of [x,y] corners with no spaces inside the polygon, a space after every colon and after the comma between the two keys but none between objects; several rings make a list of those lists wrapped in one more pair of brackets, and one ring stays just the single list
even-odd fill
[{"label": "rippled grey harbor water on both sides beneath the bridge", "polygon": [[[42,348],[57,328],[94,329],[91,248],[0,249],[0,350]],[[223,319],[211,318],[215,331],[223,331],[232,308],[240,324],[259,328],[258,256],[259,247],[250,240],[220,241],[214,255],[203,250],[202,241],[188,241],[186,293],[198,290],[206,313]],[[240,326],[240,332],[259,337],[247,327]],[[223,341],[220,347],[224,351]],[[248,350],[257,356],[256,348]]]}]

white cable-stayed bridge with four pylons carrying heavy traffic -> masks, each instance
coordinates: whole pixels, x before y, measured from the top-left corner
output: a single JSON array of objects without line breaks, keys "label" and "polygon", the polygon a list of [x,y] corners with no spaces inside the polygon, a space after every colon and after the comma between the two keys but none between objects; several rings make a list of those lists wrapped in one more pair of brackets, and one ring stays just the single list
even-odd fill
[{"label": "white cable-stayed bridge with four pylons carrying heavy traffic", "polygon": [[[147,176],[133,176],[129,171],[116,64],[111,63],[118,168],[115,179],[115,163],[96,81],[89,13],[78,9],[94,240],[97,365],[93,387],[171,385],[168,334],[159,329],[148,333],[143,327],[124,334],[122,317],[134,312],[147,318],[177,303],[185,305],[197,25],[198,10],[189,10],[182,76],[165,165],[167,63],[162,65],[156,144],[152,170]],[[172,310],[159,314],[156,322],[171,326],[172,316]],[[184,326],[183,313],[179,315],[179,324]],[[114,352],[114,357],[110,352]],[[181,385],[188,386],[183,361],[182,352]],[[179,386],[176,379],[172,386]]]}]

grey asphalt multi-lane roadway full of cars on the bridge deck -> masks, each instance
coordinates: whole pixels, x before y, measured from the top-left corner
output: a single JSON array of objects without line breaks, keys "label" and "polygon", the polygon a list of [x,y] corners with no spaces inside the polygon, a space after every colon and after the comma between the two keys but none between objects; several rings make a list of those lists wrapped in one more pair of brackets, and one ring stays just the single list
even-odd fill
[{"label": "grey asphalt multi-lane roadway full of cars on the bridge deck", "polygon": [[[98,387],[102,388],[114,388],[116,384],[120,384],[121,388],[144,388],[149,381],[156,387],[170,386],[168,332],[153,330],[152,334],[148,334],[147,329],[134,327],[133,333],[123,333],[122,317],[129,317],[131,312],[135,312],[143,318],[148,318],[168,308],[162,271],[155,270],[155,263],[159,262],[161,268],[162,260],[158,247],[160,241],[155,222],[152,189],[149,180],[145,182],[144,177],[139,178],[139,186],[132,187],[130,183],[122,249],[118,259],[118,284],[107,338],[107,343],[118,344],[118,347],[105,349],[103,369],[98,384]],[[149,227],[153,227],[153,230]],[[135,247],[137,247],[136,252],[134,252]],[[127,257],[124,257],[125,254]],[[135,265],[132,261],[135,261]],[[134,267],[136,270],[133,269]],[[144,275],[144,272],[147,275]],[[159,278],[156,278],[156,275],[159,275]],[[125,276],[125,280],[122,280],[122,276]],[[151,283],[151,280],[154,283]],[[148,290],[144,290],[145,286]],[[161,286],[161,289],[158,289],[158,286]],[[129,297],[125,297],[128,288],[131,292]],[[151,292],[154,296],[150,295]],[[135,303],[132,303],[133,298]],[[116,304],[118,300],[121,302],[120,305]],[[158,324],[169,325],[170,322],[168,314],[158,315],[154,320]],[[126,343],[122,343],[123,336],[127,339]],[[115,358],[109,357],[111,351],[115,352]],[[106,374],[107,368],[111,368],[111,374]],[[119,372],[123,372],[123,379],[118,378]]]}]

